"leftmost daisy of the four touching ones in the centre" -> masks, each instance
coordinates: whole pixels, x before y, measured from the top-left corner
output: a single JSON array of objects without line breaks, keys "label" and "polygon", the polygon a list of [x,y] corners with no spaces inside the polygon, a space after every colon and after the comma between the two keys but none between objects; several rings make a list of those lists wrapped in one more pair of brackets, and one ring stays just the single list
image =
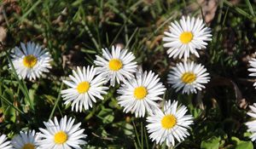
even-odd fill
[{"label": "leftmost daisy of the four touching ones in the centre", "polygon": [[69,75],[72,81],[64,80],[63,82],[69,86],[69,89],[61,90],[62,98],[65,104],[72,103],[72,110],[82,112],[92,107],[92,102],[96,103],[96,98],[104,100],[102,95],[106,95],[105,91],[108,87],[102,86],[107,83],[104,77],[96,76],[96,69],[93,66],[83,67],[81,70],[77,67],[77,72],[73,71],[73,76]]}]

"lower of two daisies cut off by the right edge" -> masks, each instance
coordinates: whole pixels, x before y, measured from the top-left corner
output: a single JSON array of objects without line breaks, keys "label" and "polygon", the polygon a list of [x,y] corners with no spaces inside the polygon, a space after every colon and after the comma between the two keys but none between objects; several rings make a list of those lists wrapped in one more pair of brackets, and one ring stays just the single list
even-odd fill
[{"label": "lower of two daisies cut off by the right edge", "polygon": [[247,112],[247,115],[252,117],[253,120],[246,123],[247,131],[251,132],[252,135],[250,136],[251,140],[256,140],[256,103],[253,106],[249,106],[252,112]]}]

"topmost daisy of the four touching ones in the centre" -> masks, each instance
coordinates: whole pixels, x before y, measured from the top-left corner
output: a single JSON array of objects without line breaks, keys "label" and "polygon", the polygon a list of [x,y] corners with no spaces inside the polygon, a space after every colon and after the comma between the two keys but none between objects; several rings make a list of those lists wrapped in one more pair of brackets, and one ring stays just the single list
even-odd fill
[{"label": "topmost daisy of the four touching ones in the centre", "polygon": [[119,46],[112,47],[111,53],[108,49],[102,49],[102,57],[96,55],[97,73],[102,77],[106,77],[110,80],[110,84],[114,86],[115,81],[120,83],[125,79],[131,79],[133,73],[136,72],[137,62],[135,56],[128,52],[127,49],[121,49]]}]

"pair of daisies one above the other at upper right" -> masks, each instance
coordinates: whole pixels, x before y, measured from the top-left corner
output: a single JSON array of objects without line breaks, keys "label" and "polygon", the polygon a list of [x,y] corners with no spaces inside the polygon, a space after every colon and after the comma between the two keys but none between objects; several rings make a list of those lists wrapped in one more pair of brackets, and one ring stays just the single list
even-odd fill
[{"label": "pair of daisies one above the other at upper right", "polygon": [[182,17],[179,21],[171,23],[170,31],[163,37],[164,47],[168,48],[167,54],[173,58],[184,58],[168,74],[167,82],[172,84],[176,92],[182,90],[183,94],[197,93],[205,89],[204,84],[210,81],[207,69],[201,64],[188,62],[190,53],[200,57],[197,49],[206,49],[207,41],[212,40],[211,29],[203,20],[192,17]]}]

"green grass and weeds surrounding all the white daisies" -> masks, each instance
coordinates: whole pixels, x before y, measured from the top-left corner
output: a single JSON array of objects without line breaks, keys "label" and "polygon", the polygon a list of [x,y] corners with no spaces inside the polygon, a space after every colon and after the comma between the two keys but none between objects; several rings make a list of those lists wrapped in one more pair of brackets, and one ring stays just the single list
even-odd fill
[{"label": "green grass and weeds surrounding all the white daisies", "polygon": [[[153,2],[153,3],[150,3]],[[124,114],[117,104],[116,88],[89,111],[71,112],[60,96],[67,87],[61,82],[75,66],[93,65],[102,48],[121,44],[130,49],[144,70],[157,72],[168,91],[165,98],[177,99],[195,117],[191,135],[177,148],[236,148],[250,141],[246,126],[247,104],[256,101],[247,61],[256,48],[256,3],[245,0],[234,5],[220,0],[211,23],[212,42],[195,59],[207,67],[211,83],[198,95],[181,95],[166,83],[166,75],[178,60],[167,57],[161,37],[172,20],[185,14],[195,1],[173,0],[20,0],[6,1],[1,16],[8,36],[0,53],[1,134],[9,137],[21,129],[44,127],[53,116],[68,115],[82,122],[88,135],[84,148],[166,148],[148,138],[145,118]],[[196,3],[195,3],[196,5]],[[53,62],[49,75],[29,82],[9,69],[9,50],[20,42],[33,41],[49,49]],[[254,55],[255,56],[255,55]],[[13,66],[11,66],[13,67]],[[253,143],[254,146],[255,143]]]}]

